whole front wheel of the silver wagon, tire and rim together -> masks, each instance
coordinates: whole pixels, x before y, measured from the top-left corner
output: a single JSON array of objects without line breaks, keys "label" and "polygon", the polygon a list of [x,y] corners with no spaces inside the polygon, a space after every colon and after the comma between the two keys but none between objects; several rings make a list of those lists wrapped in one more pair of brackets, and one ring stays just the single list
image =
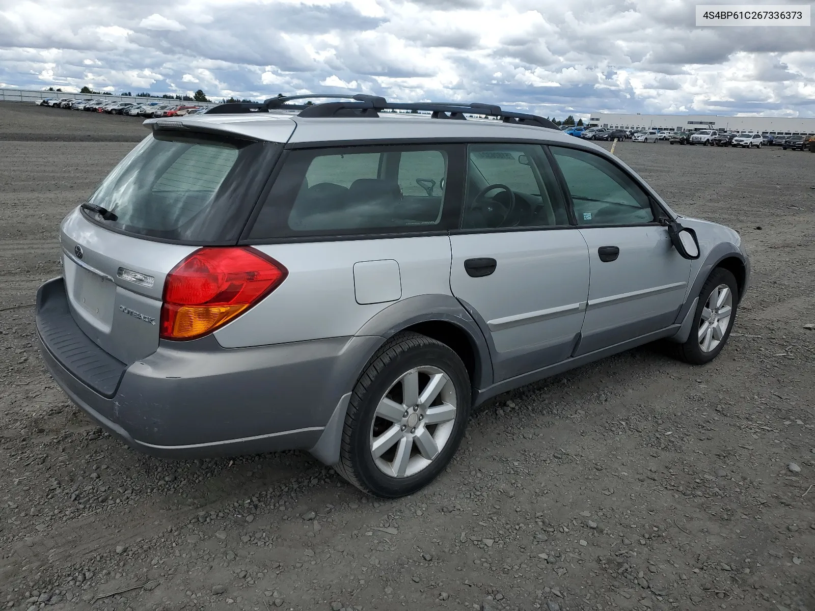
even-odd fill
[{"label": "whole front wheel of the silver wagon, tire and rim together", "polygon": [[738,308],[738,284],[728,270],[717,267],[699,292],[694,325],[684,344],[675,345],[676,357],[694,365],[710,363],[730,336]]}]

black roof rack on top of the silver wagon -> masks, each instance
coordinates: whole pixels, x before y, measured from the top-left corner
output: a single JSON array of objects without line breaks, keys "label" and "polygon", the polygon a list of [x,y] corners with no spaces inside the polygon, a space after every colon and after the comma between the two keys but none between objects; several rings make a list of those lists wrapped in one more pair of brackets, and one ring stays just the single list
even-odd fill
[{"label": "black roof rack on top of the silver wagon", "polygon": [[[343,99],[346,102],[326,102],[319,104],[289,104],[297,99]],[[379,95],[341,95],[341,94],[303,94],[278,95],[269,98],[263,103],[227,103],[215,106],[206,111],[206,114],[227,112],[269,112],[271,110],[299,110],[297,116],[303,117],[340,117],[340,116],[379,116],[382,110],[409,110],[430,112],[434,119],[455,119],[463,121],[465,115],[495,116],[504,123],[520,125],[536,125],[557,130],[557,125],[547,118],[526,112],[503,110],[496,104],[485,103],[458,103],[458,102],[417,102],[402,103],[388,102]]]}]

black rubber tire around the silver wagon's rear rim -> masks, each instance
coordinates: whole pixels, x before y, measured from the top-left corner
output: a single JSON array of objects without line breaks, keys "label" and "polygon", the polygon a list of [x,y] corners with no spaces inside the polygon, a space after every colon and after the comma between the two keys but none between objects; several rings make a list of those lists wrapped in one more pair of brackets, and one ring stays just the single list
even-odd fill
[{"label": "black rubber tire around the silver wagon's rear rim", "polygon": [[[452,433],[427,467],[409,477],[382,472],[371,454],[370,431],[380,399],[406,371],[421,366],[438,367],[456,389],[456,420]],[[447,345],[414,332],[397,333],[373,355],[351,393],[342,430],[337,473],[351,484],[384,499],[411,495],[433,481],[447,467],[464,437],[472,407],[469,375],[464,363]]]}]

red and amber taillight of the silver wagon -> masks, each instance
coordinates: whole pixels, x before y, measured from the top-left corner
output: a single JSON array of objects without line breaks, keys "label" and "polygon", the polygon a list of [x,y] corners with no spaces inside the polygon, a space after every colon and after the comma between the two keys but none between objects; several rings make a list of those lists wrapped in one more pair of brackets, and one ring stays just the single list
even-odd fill
[{"label": "red and amber taillight of the silver wagon", "polygon": [[274,291],[288,274],[254,248],[200,248],[167,275],[160,335],[192,340],[213,332]]}]

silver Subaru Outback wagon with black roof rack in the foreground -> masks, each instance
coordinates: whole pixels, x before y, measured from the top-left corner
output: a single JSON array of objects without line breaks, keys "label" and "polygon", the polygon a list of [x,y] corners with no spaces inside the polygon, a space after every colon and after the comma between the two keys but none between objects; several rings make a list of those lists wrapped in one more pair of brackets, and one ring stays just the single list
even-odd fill
[{"label": "silver Subaru Outback wagon with black roof rack in the foreground", "polygon": [[496,394],[650,341],[724,347],[738,233],[601,147],[487,104],[292,101],[146,121],[62,222],[42,358],[130,446],[302,449],[397,497]]}]

